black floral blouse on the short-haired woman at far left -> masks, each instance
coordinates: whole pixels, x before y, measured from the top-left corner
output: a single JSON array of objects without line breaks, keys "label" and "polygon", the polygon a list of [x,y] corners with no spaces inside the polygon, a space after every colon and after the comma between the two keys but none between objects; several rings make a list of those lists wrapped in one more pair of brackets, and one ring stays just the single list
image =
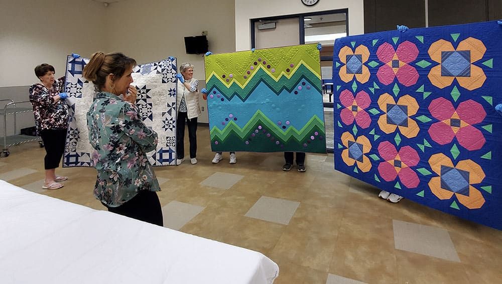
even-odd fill
[{"label": "black floral blouse on the short-haired woman at far left", "polygon": [[50,89],[42,83],[30,87],[30,102],[39,132],[46,129],[68,129],[68,105],[65,100],[54,103],[53,98],[64,92],[64,82],[63,76],[54,81]]}]

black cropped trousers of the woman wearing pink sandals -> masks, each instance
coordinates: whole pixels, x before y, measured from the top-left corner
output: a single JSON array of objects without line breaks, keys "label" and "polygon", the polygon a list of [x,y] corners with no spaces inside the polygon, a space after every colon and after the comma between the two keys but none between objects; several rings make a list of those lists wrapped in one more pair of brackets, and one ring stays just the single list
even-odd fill
[{"label": "black cropped trousers of the woman wearing pink sandals", "polygon": [[59,167],[66,145],[66,132],[66,129],[45,129],[40,131],[46,153],[44,158],[46,170]]}]

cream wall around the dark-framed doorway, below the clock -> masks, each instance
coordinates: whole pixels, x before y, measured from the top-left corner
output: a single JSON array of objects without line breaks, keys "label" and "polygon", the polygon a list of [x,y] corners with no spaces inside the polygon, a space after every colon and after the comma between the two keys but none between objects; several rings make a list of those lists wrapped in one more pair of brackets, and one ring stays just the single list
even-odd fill
[{"label": "cream wall around the dark-framed doorway, below the clock", "polygon": [[363,0],[320,0],[307,7],[300,0],[235,0],[235,50],[249,50],[250,19],[348,8],[350,35],[364,34]]}]

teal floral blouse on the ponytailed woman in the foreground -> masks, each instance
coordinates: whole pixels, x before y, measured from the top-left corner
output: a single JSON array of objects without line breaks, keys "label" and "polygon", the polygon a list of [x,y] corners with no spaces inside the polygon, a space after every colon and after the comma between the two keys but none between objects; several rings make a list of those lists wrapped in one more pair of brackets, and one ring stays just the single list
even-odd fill
[{"label": "teal floral blouse on the ponytailed woman in the foreground", "polygon": [[138,108],[99,92],[87,112],[91,160],[97,170],[94,196],[109,207],[131,200],[140,190],[160,191],[147,152],[157,147],[157,133],[139,118]]}]

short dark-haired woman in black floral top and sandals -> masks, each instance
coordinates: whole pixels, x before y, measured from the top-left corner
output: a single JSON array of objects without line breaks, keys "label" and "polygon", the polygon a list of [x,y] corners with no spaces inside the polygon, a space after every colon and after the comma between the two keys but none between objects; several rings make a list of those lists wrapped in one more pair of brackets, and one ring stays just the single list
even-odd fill
[{"label": "short dark-haired woman in black floral top and sandals", "polygon": [[61,188],[63,185],[59,182],[68,179],[66,176],[56,175],[56,168],[59,167],[66,144],[68,105],[64,100],[68,96],[63,93],[65,77],[56,80],[54,74],[52,65],[44,63],[35,67],[35,75],[40,83],[30,87],[35,124],[46,151],[45,183],[42,186],[45,189]]}]

